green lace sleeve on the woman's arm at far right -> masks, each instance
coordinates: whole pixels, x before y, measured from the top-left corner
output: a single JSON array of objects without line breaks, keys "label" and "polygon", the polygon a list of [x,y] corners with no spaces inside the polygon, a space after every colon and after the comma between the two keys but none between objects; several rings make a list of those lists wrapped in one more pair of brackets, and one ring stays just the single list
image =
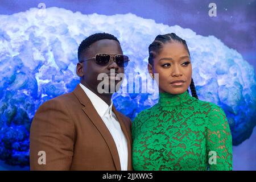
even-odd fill
[{"label": "green lace sleeve on the woman's arm at far right", "polygon": [[210,170],[232,170],[232,135],[224,111],[212,105],[207,115],[207,155]]}]

